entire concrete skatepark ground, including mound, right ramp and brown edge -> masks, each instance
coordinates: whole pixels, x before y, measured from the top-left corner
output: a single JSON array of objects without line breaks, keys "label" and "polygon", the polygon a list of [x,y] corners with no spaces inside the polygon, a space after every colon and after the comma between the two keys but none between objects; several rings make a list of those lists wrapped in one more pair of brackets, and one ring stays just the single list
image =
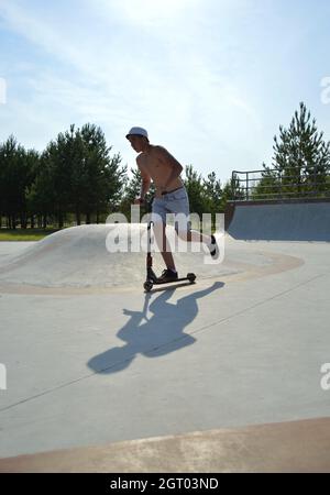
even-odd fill
[{"label": "entire concrete skatepark ground, including mound, right ramp and brown edge", "polygon": [[147,294],[123,224],[0,243],[0,472],[330,472],[328,207],[243,208]]}]

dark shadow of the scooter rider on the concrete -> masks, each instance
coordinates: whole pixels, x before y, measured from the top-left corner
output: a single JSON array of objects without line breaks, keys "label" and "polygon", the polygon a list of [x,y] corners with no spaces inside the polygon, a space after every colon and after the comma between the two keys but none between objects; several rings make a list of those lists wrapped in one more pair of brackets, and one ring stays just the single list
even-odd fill
[{"label": "dark shadow of the scooter rider on the concrete", "polygon": [[151,304],[152,295],[147,294],[142,311],[123,309],[130,320],[119,330],[118,337],[125,344],[94,356],[88,366],[100,374],[118,373],[127,369],[138,354],[158,358],[191,345],[196,339],[184,330],[198,315],[197,300],[223,286],[222,282],[216,282],[211,287],[176,302],[168,301],[174,290],[162,293]]}]

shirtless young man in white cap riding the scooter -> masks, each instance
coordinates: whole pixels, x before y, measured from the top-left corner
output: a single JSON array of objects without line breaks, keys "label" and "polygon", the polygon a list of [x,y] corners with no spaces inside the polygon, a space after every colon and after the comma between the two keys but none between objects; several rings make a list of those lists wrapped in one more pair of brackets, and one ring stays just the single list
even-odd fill
[{"label": "shirtless young man in white cap riding the scooter", "polygon": [[178,235],[187,242],[201,242],[207,244],[213,258],[219,255],[219,249],[213,235],[204,235],[190,229],[189,200],[184,183],[180,178],[183,166],[163,146],[150,144],[145,129],[132,128],[127,135],[131,146],[140,155],[136,158],[138,167],[142,176],[140,198],[135,205],[144,202],[151,180],[156,188],[156,197],[153,201],[153,213],[157,213],[162,221],[154,221],[154,233],[158,246],[162,246],[162,256],[166,265],[160,279],[173,282],[178,278],[175,263],[166,239],[166,213],[184,213],[186,216],[185,228],[179,222]]}]

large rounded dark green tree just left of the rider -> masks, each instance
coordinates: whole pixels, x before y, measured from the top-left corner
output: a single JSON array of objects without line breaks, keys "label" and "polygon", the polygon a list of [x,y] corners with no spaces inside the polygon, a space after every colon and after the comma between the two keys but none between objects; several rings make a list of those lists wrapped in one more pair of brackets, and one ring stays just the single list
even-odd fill
[{"label": "large rounded dark green tree just left of the rider", "polygon": [[86,124],[80,129],[72,125],[48,144],[42,156],[43,168],[32,191],[35,205],[47,215],[55,215],[58,227],[64,226],[69,212],[81,215],[90,223],[96,215],[114,211],[125,180],[125,167],[121,167],[119,154],[111,156],[111,147],[100,128]]}]

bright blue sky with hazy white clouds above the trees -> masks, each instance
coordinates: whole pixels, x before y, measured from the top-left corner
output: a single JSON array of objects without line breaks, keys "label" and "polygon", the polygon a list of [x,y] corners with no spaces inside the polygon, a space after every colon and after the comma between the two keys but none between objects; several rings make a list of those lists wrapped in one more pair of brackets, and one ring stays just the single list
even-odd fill
[{"label": "bright blue sky with hazy white clouds above the trees", "polygon": [[205,176],[258,169],[300,101],[330,140],[329,19],[329,0],[0,0],[0,141],[92,122],[131,167],[141,125]]}]

